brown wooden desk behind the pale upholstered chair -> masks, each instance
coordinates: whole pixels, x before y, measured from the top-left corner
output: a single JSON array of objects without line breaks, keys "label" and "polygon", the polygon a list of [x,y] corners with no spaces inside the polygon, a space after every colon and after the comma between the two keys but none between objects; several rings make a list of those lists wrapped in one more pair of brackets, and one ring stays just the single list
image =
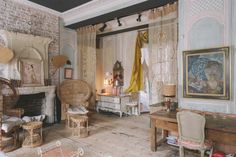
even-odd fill
[{"label": "brown wooden desk behind the pale upholstered chair", "polygon": [[[206,138],[217,144],[230,145],[236,150],[236,119],[206,115]],[[168,131],[178,132],[176,112],[158,111],[150,114],[151,118],[151,150],[156,151],[157,145],[165,140]],[[157,140],[157,128],[161,128],[162,139]],[[235,147],[235,149],[233,148]],[[224,149],[224,148],[217,148]],[[226,152],[226,151],[225,151]]]}]

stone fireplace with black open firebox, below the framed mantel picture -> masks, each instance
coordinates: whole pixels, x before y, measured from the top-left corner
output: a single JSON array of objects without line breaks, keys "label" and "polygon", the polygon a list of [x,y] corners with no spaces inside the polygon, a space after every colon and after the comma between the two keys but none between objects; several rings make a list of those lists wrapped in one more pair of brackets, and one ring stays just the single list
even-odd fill
[{"label": "stone fireplace with black open firebox, below the framed mantel picture", "polygon": [[[18,105],[23,105],[22,108],[26,110],[25,115],[26,116],[37,116],[41,110],[41,114],[46,115],[46,123],[54,123],[55,117],[54,117],[54,99],[55,99],[55,86],[37,86],[37,87],[19,87],[19,95],[23,99],[27,99],[28,105],[23,104],[21,102],[18,102]],[[38,99],[38,98],[41,98]],[[31,99],[33,98],[33,99]],[[36,99],[35,99],[36,98]],[[35,101],[35,103],[33,101]],[[19,101],[21,101],[19,99]],[[30,102],[31,101],[31,102]],[[40,102],[41,101],[41,102]],[[39,104],[41,103],[40,109]],[[24,106],[26,105],[26,106]],[[18,106],[21,107],[21,106]],[[38,110],[31,110],[30,108],[37,108]],[[35,114],[35,115],[34,115]]]}]

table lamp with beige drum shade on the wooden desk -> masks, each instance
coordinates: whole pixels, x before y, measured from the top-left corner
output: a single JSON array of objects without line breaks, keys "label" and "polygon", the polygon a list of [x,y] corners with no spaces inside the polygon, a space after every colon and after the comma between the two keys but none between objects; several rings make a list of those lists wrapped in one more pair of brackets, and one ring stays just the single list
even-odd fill
[{"label": "table lamp with beige drum shade on the wooden desk", "polygon": [[165,106],[167,107],[167,111],[170,110],[170,101],[175,97],[176,94],[176,85],[175,84],[165,84],[163,85],[162,95],[166,97]]}]

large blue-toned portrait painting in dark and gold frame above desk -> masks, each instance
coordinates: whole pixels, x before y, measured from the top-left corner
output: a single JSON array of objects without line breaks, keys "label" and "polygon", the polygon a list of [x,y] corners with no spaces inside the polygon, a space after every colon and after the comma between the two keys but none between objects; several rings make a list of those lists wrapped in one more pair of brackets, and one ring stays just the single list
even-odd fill
[{"label": "large blue-toned portrait painting in dark and gold frame above desk", "polygon": [[183,96],[229,100],[231,94],[229,47],[183,52]]}]

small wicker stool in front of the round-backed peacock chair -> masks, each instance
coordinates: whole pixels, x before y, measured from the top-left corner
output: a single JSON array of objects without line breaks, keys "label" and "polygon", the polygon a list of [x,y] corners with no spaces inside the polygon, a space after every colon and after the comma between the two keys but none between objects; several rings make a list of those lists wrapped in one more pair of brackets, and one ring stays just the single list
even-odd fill
[{"label": "small wicker stool in front of the round-backed peacock chair", "polygon": [[72,136],[88,136],[88,116],[73,116],[71,122],[73,127]]}]

